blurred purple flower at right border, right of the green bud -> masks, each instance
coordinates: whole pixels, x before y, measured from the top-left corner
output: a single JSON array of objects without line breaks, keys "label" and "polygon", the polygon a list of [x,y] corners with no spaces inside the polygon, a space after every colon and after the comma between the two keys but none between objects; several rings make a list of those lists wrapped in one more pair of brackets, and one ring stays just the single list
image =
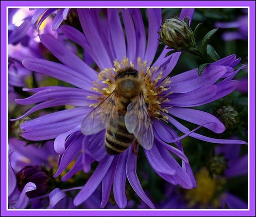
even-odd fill
[{"label": "blurred purple flower at right border, right of the green bud", "polygon": [[[246,11],[247,12],[247,11]],[[233,22],[216,22],[215,27],[224,29],[236,29],[222,35],[224,41],[248,40],[248,15],[242,15]]]}]

